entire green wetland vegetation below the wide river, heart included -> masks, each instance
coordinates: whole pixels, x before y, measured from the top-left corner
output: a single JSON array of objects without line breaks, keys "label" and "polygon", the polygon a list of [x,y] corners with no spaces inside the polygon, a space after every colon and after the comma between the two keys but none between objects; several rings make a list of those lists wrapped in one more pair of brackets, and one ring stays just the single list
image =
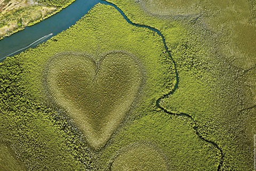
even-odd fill
[{"label": "entire green wetland vegetation below the wide river, heart included", "polygon": [[10,165],[253,170],[255,3],[109,2],[164,37],[98,4],[73,27],[7,58],[0,150]]}]

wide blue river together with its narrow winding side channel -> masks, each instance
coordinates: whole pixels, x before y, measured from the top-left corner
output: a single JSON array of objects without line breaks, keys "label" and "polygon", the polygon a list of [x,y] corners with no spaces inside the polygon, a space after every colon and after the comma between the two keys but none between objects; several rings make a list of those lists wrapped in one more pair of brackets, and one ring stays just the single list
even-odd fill
[{"label": "wide blue river together with its narrow winding side channel", "polygon": [[[161,109],[163,112],[168,113],[169,115],[180,115],[184,117],[188,117],[190,119],[193,119],[190,115],[187,113],[172,113],[167,111],[161,106],[161,101],[169,97],[171,94],[173,94],[179,85],[179,73],[177,70],[177,66],[175,64],[175,61],[172,58],[172,55],[165,43],[165,38],[162,35],[162,33],[150,26],[145,26],[145,25],[140,25],[138,23],[133,23],[131,22],[124,12],[119,9],[115,4],[108,3],[104,0],[76,0],[74,3],[69,5],[66,9],[63,9],[61,12],[53,15],[52,17],[43,20],[42,22],[37,23],[36,25],[27,27],[25,30],[19,31],[10,37],[6,37],[2,40],[0,40],[0,62],[3,61],[7,56],[13,56],[15,54],[18,54],[22,51],[25,51],[29,47],[35,47],[39,43],[45,42],[47,39],[49,39],[52,36],[55,36],[59,34],[61,31],[68,29],[70,26],[73,26],[76,21],[81,19],[94,5],[101,3],[101,4],[106,4],[106,5],[111,5],[115,7],[116,10],[119,11],[119,13],[122,14],[124,19],[129,22],[131,25],[136,26],[136,27],[143,27],[150,29],[154,32],[156,32],[163,40],[163,45],[164,48],[169,55],[169,58],[172,60],[174,67],[175,67],[175,79],[176,79],[176,84],[174,88],[168,93],[164,94],[163,96],[159,97],[156,101],[156,107]],[[194,121],[195,122],[195,121]],[[202,135],[197,131],[197,127],[193,127],[196,131],[196,134],[200,139],[207,143],[211,143],[215,148],[217,148],[220,153],[221,153],[221,159],[218,165],[217,170],[221,169],[221,166],[223,164],[223,152],[222,149],[218,146],[218,144],[209,141],[202,137]]]}]

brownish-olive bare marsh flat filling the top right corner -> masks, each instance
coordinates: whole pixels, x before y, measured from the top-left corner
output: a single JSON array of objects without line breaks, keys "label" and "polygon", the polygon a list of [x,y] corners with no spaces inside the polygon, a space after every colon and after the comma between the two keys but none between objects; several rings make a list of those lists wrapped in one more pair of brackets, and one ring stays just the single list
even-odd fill
[{"label": "brownish-olive bare marsh flat filling the top right corner", "polygon": [[255,64],[255,1],[142,0],[140,5],[160,18],[198,17],[207,29],[221,35],[222,53],[237,67],[248,69]]}]

